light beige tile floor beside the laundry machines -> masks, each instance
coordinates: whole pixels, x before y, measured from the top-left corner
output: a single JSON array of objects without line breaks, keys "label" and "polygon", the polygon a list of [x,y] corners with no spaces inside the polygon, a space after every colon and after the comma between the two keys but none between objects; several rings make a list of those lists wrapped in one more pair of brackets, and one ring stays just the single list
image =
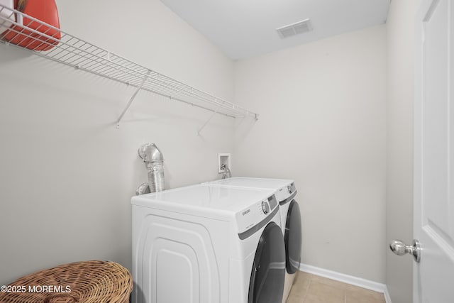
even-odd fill
[{"label": "light beige tile floor beside the laundry machines", "polygon": [[297,272],[287,303],[385,303],[380,292]]}]

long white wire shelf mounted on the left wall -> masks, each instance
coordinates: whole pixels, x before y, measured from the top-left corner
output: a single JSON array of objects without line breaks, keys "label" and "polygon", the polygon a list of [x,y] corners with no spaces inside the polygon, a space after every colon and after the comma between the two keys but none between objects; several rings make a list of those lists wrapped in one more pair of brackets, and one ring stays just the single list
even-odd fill
[{"label": "long white wire shelf mounted on the left wall", "polygon": [[[140,89],[209,110],[214,114],[233,118],[251,116],[258,119],[258,114],[241,106],[162,75],[2,4],[0,4],[1,32],[4,32],[0,35],[2,43],[29,50],[35,55],[69,65],[77,70],[136,87],[137,91],[117,123]],[[13,43],[9,42],[12,41],[11,38],[6,39],[6,34],[9,37],[14,35]],[[60,35],[60,38],[55,38],[56,34]]]}]

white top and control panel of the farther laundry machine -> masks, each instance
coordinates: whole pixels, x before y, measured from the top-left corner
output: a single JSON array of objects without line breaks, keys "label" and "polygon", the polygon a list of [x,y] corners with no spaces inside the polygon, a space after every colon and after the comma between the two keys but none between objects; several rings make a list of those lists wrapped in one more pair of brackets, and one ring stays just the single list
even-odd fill
[{"label": "white top and control panel of the farther laundry machine", "polygon": [[276,192],[276,198],[279,204],[292,201],[293,197],[297,194],[297,187],[295,187],[294,180],[290,179],[231,177],[206,182],[204,184],[213,184],[225,187],[273,189]]}]

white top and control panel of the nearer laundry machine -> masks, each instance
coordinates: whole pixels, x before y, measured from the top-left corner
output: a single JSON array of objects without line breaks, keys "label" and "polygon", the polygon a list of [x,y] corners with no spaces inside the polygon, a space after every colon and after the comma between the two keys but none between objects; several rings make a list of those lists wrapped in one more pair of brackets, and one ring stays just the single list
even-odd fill
[{"label": "white top and control panel of the nearer laundry machine", "polygon": [[279,204],[272,189],[216,187],[196,184],[143,194],[133,205],[174,211],[211,219],[235,221],[240,238],[247,238],[263,222],[276,216]]}]

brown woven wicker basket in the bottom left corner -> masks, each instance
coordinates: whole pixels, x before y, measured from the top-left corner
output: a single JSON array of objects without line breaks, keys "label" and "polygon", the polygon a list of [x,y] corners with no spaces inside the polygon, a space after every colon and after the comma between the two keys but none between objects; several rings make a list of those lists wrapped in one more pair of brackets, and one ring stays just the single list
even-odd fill
[{"label": "brown woven wicker basket in the bottom left corner", "polygon": [[0,292],[0,303],[128,303],[131,274],[118,263],[85,261],[26,275]]}]

